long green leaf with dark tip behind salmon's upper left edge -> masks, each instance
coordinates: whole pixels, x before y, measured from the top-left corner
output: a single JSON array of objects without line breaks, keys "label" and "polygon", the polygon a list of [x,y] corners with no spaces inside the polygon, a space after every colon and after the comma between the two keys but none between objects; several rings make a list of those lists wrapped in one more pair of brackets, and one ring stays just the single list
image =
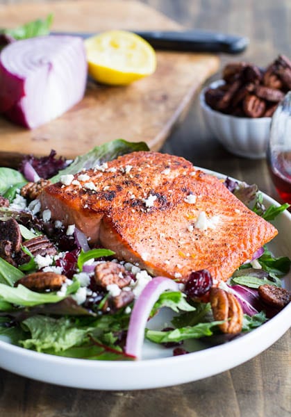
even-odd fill
[{"label": "long green leaf with dark tip behind salmon's upper left edge", "polygon": [[61,170],[52,177],[50,180],[53,183],[60,181],[60,176],[65,174],[76,174],[83,170],[89,170],[96,165],[101,165],[104,162],[112,161],[124,154],[129,154],[135,151],[148,151],[149,147],[144,142],[126,142],[124,139],[116,139],[111,142],[104,143],[103,145],[94,147],[90,152],[85,155],[77,156],[74,162]]}]

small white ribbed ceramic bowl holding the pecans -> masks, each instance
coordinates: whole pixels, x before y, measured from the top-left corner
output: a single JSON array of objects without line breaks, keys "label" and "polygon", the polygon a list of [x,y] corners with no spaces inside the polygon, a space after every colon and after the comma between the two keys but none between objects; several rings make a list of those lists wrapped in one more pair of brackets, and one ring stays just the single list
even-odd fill
[{"label": "small white ribbed ceramic bowl holding the pecans", "polygon": [[201,91],[200,104],[207,128],[229,152],[245,158],[265,158],[272,118],[235,117],[210,108],[205,102],[206,90],[223,83],[215,81]]}]

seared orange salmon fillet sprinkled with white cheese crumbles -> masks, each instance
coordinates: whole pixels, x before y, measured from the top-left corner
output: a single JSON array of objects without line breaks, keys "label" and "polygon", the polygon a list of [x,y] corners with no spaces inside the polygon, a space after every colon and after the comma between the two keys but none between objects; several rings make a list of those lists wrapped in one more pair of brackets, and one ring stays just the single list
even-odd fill
[{"label": "seared orange salmon fillet sprinkled with white cheese crumbles", "polygon": [[225,281],[278,233],[178,156],[133,152],[62,181],[44,189],[42,209],[154,276],[208,269]]}]

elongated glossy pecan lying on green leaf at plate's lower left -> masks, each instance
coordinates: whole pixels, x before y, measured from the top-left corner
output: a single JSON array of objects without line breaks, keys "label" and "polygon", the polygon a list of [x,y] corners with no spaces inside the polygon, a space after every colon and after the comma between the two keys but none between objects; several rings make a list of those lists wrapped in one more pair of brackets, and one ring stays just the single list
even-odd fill
[{"label": "elongated glossy pecan lying on green leaf at plate's lower left", "polygon": [[40,293],[46,290],[58,291],[66,279],[65,275],[56,274],[56,272],[33,272],[20,278],[15,286],[22,284],[26,288]]}]

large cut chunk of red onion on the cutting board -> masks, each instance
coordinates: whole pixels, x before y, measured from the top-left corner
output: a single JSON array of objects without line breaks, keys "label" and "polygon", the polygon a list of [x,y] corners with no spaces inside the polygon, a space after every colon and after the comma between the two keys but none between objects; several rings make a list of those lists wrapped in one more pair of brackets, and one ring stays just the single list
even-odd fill
[{"label": "large cut chunk of red onion on the cutting board", "polygon": [[81,38],[48,35],[13,42],[0,54],[0,111],[33,129],[78,103],[86,79]]}]

